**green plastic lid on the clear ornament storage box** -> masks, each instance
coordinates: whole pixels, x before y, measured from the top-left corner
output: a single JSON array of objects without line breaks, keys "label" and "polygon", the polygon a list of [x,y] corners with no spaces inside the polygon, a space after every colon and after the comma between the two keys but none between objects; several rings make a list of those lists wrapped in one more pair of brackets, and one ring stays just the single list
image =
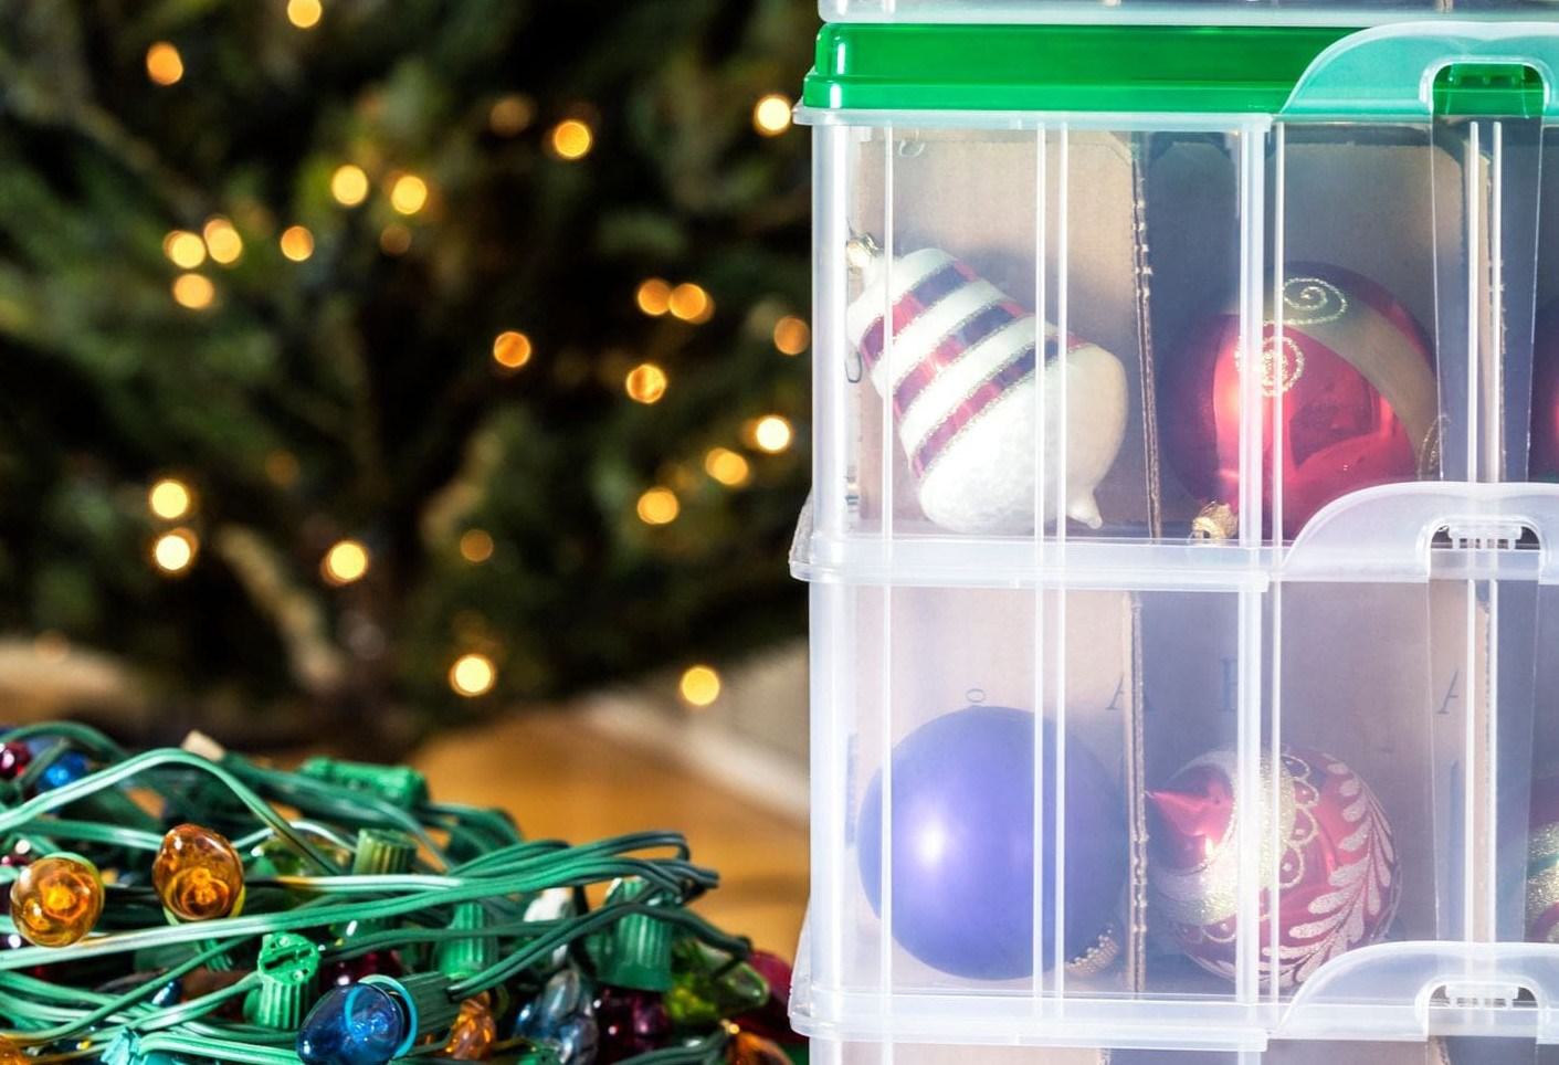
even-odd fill
[{"label": "green plastic lid on the clear ornament storage box", "polygon": [[[801,120],[840,112],[1543,114],[1559,23],[1338,27],[829,23]],[[1433,90],[1425,95],[1425,75]],[[1554,78],[1548,78],[1554,81]],[[847,120],[853,120],[848,119]]]}]

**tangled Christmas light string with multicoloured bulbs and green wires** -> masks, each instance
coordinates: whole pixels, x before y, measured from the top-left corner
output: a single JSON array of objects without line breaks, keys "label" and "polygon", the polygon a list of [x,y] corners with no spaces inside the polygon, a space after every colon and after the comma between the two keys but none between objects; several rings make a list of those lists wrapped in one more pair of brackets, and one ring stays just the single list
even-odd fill
[{"label": "tangled Christmas light string with multicoloured bulbs and green wires", "polygon": [[0,736],[0,1065],[783,1065],[789,968],[677,833],[524,839],[408,767]]}]

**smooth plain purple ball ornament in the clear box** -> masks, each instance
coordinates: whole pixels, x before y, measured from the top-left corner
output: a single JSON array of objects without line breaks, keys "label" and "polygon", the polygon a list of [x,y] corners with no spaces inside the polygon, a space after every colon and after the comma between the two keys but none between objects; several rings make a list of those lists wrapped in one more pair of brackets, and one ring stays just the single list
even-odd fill
[{"label": "smooth plain purple ball ornament in the clear box", "polygon": [[[945,973],[1015,979],[1034,973],[1034,722],[1010,706],[967,706],[893,747],[892,934]],[[1045,741],[1041,967],[1055,936],[1055,727]],[[1126,881],[1126,803],[1104,766],[1066,747],[1068,959],[1099,959]],[[857,822],[861,879],[882,912],[882,773]]]}]

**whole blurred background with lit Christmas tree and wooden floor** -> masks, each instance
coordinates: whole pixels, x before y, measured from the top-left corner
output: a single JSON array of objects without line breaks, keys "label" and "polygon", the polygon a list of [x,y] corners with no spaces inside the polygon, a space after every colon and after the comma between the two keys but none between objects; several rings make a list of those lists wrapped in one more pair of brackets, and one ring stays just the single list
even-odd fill
[{"label": "whole blurred background with lit Christmas tree and wooden floor", "polygon": [[0,0],[0,716],[804,900],[812,0]]}]

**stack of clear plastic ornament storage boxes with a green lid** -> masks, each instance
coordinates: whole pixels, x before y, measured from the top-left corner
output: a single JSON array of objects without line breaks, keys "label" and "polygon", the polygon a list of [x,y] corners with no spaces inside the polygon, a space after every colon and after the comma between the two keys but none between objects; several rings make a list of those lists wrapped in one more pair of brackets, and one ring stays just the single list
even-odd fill
[{"label": "stack of clear plastic ornament storage boxes with a green lid", "polygon": [[1559,9],[823,17],[814,1056],[1545,1056]]}]

